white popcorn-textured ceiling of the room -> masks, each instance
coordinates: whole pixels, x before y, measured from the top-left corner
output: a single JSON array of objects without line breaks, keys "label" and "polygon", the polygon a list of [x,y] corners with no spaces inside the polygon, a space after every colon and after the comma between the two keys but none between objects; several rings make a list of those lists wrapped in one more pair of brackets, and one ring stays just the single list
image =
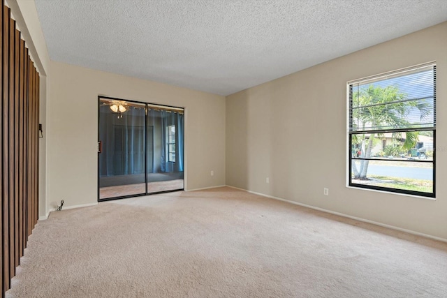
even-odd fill
[{"label": "white popcorn-textured ceiling of the room", "polygon": [[221,95],[447,20],[446,0],[35,1],[52,60]]}]

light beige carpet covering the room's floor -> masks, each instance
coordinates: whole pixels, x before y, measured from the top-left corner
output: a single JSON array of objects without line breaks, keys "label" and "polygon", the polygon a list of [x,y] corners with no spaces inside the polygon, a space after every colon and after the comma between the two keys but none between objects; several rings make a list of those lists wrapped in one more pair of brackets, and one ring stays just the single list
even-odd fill
[{"label": "light beige carpet covering the room's floor", "polygon": [[232,188],[52,212],[7,297],[446,297],[447,244]]}]

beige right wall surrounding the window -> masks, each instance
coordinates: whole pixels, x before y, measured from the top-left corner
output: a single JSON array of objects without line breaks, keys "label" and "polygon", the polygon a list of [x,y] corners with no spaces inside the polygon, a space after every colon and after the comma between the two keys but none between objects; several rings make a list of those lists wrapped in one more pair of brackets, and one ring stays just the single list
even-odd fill
[{"label": "beige right wall surrounding the window", "polygon": [[[447,22],[227,96],[226,184],[447,239],[446,36]],[[346,82],[428,61],[438,66],[437,200],[347,188]]]}]

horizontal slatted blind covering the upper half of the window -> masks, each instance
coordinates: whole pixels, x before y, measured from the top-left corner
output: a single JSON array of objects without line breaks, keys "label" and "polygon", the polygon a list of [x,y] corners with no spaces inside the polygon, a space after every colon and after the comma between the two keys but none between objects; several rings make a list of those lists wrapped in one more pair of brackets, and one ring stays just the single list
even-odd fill
[{"label": "horizontal slatted blind covering the upper half of the window", "polygon": [[434,130],[436,65],[349,82],[349,133]]}]

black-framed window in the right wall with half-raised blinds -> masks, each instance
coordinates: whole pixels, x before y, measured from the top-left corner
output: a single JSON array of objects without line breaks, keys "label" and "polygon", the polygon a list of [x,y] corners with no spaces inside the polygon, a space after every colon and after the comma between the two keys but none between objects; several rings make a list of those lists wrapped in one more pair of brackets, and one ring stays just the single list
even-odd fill
[{"label": "black-framed window in the right wall with half-raised blinds", "polygon": [[434,198],[436,65],[347,87],[349,186]]}]

